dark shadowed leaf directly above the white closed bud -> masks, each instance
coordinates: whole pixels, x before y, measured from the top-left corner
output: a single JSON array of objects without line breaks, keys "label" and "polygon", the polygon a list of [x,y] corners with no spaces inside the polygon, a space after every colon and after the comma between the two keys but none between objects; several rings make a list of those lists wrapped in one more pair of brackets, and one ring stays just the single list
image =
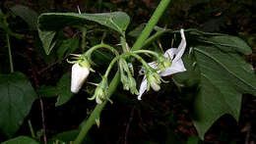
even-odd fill
[{"label": "dark shadowed leaf directly above the white closed bud", "polygon": [[63,58],[67,57],[69,54],[73,53],[76,49],[79,48],[79,39],[71,38],[63,40],[61,45],[58,47],[57,55],[61,61]]}]

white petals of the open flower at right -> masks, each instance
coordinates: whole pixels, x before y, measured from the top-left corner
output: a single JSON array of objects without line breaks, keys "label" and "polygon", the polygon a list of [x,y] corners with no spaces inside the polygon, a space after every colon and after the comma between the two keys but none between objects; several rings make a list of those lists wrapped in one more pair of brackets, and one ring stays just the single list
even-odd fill
[{"label": "white petals of the open flower at right", "polygon": [[[182,39],[181,39],[181,42],[180,42],[178,48],[170,48],[170,49],[166,50],[166,52],[163,55],[163,57],[165,57],[166,59],[170,59],[171,66],[166,68],[162,72],[159,71],[158,73],[160,74],[160,76],[167,76],[167,75],[170,75],[170,74],[173,74],[176,72],[186,71],[184,64],[181,60],[181,57],[186,48],[186,38],[185,38],[185,34],[184,34],[184,29],[180,29],[180,34],[181,34]],[[153,69],[158,69],[158,65],[156,62],[149,63],[149,65]],[[142,80],[141,87],[139,90],[138,100],[141,100],[143,93],[147,90],[147,85],[148,85],[148,80],[145,75]],[[160,90],[160,87],[158,88],[158,90]]]}]

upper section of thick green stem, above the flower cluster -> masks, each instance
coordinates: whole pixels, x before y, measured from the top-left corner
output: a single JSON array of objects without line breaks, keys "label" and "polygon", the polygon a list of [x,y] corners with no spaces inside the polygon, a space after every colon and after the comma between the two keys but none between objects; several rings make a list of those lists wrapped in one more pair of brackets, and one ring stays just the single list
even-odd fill
[{"label": "upper section of thick green stem, above the flower cluster", "polygon": [[149,23],[143,29],[140,37],[136,40],[135,44],[133,45],[133,48],[132,48],[133,51],[141,49],[145,40],[150,36],[154,26],[159,22],[160,16],[163,14],[164,10],[166,9],[166,7],[168,6],[170,1],[171,0],[161,0],[160,1],[160,4],[159,4],[157,10],[153,14]]}]

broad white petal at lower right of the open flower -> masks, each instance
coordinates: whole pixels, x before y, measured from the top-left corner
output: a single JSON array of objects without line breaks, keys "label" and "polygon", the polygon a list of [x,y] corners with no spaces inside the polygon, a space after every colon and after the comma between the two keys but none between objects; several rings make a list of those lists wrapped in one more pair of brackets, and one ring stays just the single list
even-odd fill
[{"label": "broad white petal at lower right of the open flower", "polygon": [[186,71],[184,64],[181,59],[173,62],[169,68],[166,68],[163,72],[160,72],[160,76],[167,76],[176,72]]}]

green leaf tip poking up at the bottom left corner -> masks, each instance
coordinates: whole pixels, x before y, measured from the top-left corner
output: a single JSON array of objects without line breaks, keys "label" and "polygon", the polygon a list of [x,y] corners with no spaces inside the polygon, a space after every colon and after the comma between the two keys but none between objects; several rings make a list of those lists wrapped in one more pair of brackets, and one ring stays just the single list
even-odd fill
[{"label": "green leaf tip poking up at the bottom left corner", "polygon": [[2,144],[39,144],[39,142],[28,136],[19,136],[8,141],[3,142]]}]

